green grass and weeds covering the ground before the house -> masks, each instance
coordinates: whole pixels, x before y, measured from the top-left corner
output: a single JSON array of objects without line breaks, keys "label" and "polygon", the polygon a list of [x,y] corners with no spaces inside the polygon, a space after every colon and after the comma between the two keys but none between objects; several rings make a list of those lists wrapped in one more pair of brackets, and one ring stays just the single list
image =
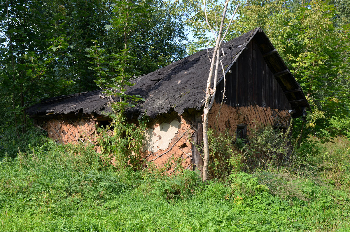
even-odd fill
[{"label": "green grass and weeds covering the ground before the house", "polygon": [[329,144],[302,172],[204,185],[193,171],[117,170],[48,141],[1,160],[0,231],[350,231],[348,145]]}]

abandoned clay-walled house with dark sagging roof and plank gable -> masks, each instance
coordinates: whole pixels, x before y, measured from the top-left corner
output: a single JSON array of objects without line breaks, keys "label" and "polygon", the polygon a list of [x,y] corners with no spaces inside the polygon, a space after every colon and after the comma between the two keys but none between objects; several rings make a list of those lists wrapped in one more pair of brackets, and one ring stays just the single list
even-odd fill
[{"label": "abandoned clay-walled house with dark sagging roof and plank gable", "polygon": [[[226,42],[220,49],[216,103],[209,115],[209,128],[228,129],[245,137],[257,124],[286,128],[292,117],[306,114],[310,106],[293,75],[261,28]],[[203,165],[196,144],[202,142],[204,97],[209,74],[205,49],[134,80],[129,95],[146,101],[126,110],[127,118],[149,116],[144,158],[174,170],[175,159],[184,169]],[[224,85],[225,98],[221,106]],[[48,137],[62,143],[96,142],[96,128],[109,124],[110,111],[100,90],[51,97],[27,109],[34,123]],[[169,163],[170,162],[170,163]],[[170,165],[169,165],[170,164]]]}]

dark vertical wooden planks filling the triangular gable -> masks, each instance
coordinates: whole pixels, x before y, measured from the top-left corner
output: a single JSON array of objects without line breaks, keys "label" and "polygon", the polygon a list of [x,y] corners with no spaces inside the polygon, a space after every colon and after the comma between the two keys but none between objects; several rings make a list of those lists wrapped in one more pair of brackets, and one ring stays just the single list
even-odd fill
[{"label": "dark vertical wooden planks filling the triangular gable", "polygon": [[[232,74],[226,76],[226,102],[236,107],[258,105],[273,109],[291,109],[280,84],[268,68],[254,40],[231,67]],[[216,101],[222,99],[224,82],[218,85]]]}]

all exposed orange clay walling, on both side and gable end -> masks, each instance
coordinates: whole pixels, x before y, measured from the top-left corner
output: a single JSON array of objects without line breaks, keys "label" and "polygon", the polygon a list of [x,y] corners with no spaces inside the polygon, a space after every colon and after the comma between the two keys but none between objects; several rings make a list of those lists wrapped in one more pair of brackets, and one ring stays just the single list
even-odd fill
[{"label": "all exposed orange clay walling, on both side and gable end", "polygon": [[[198,121],[198,119],[197,119]],[[261,124],[287,127],[290,121],[288,110],[277,110],[255,106],[231,107],[213,105],[209,112],[209,128],[218,133],[228,129],[236,136],[239,125],[247,125],[247,135],[251,129]],[[198,127],[194,115],[164,114],[149,122],[145,131],[143,158],[168,173],[176,169],[202,170],[202,152],[197,150],[201,142],[202,128]],[[69,120],[50,119],[42,124],[48,137],[61,143],[96,144],[97,122],[88,118]],[[97,145],[97,144],[96,144]],[[98,146],[96,146],[99,151]]]}]

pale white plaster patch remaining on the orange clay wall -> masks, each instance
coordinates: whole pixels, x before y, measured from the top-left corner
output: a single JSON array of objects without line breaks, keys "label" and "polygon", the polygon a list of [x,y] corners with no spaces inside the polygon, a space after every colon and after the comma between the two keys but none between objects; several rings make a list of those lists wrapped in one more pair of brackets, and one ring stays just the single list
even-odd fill
[{"label": "pale white plaster patch remaining on the orange clay wall", "polygon": [[170,141],[175,137],[180,122],[174,120],[170,124],[163,122],[154,130],[149,128],[145,131],[145,146],[143,151],[156,152],[169,147]]}]

